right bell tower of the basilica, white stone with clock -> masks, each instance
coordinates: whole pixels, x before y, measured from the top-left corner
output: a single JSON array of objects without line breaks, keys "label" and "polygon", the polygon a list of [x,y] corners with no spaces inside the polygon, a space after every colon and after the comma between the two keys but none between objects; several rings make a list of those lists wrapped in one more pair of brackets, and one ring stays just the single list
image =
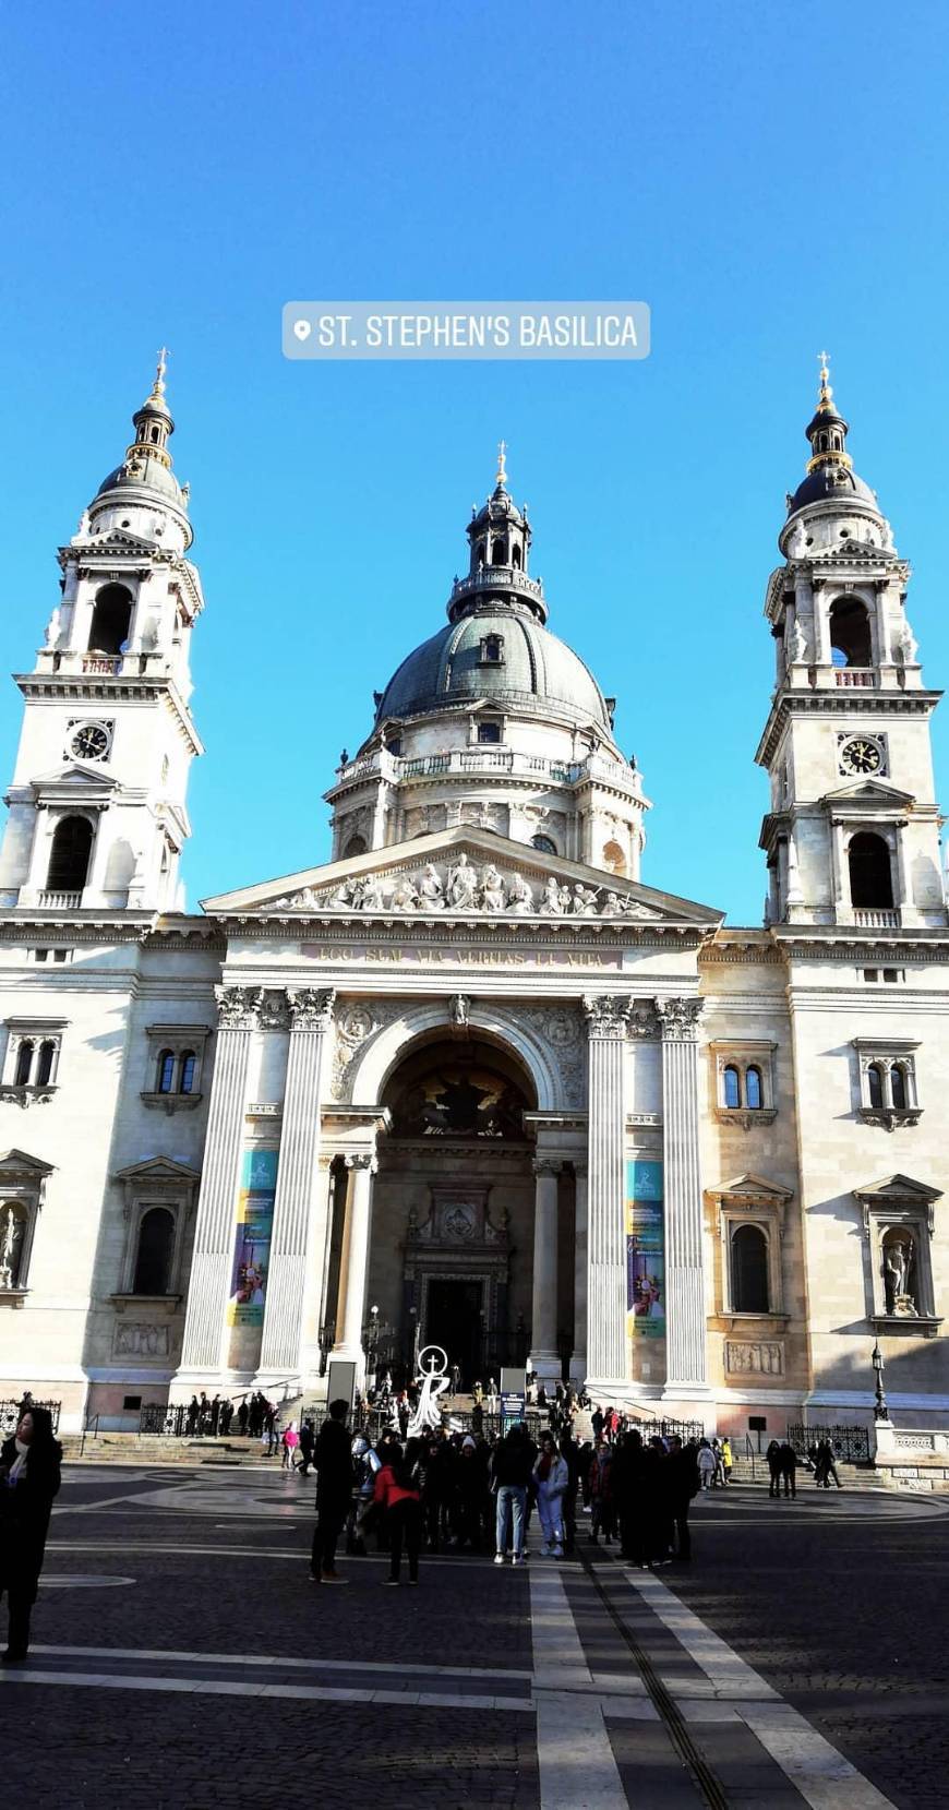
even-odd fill
[{"label": "right bell tower of the basilica, white stone with clock", "polygon": [[945,927],[927,691],[909,563],[857,476],[820,355],[811,458],[768,581],[775,690],[757,749],[772,807],[768,923]]}]

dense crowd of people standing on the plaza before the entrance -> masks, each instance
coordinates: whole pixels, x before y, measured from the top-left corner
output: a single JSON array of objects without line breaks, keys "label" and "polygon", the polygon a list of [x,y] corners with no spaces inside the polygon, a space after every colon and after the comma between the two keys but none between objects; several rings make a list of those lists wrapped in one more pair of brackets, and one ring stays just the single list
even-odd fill
[{"label": "dense crowd of people standing on the plaza before the entrance", "polygon": [[[337,1551],[364,1557],[389,1551],[389,1578],[418,1580],[429,1553],[494,1553],[494,1564],[520,1566],[529,1555],[536,1515],[540,1557],[574,1553],[578,1517],[589,1511],[590,1544],[612,1542],[643,1569],[688,1562],[690,1504],[699,1493],[706,1443],[625,1428],[621,1417],[596,1414],[594,1437],[578,1443],[570,1424],[534,1435],[522,1423],[485,1435],[435,1428],[404,1439],[397,1426],[375,1443],[348,1426],[348,1403],[333,1401],[319,1434],[302,1439],[301,1464],[317,1475],[317,1526],[312,1548],[315,1584],[346,1582]],[[719,1448],[721,1457],[721,1448]]]}]

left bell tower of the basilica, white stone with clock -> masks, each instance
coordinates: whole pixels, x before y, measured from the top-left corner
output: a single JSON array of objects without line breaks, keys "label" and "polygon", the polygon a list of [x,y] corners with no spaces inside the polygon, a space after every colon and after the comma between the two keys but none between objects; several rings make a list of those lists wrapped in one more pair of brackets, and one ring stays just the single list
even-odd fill
[{"label": "left bell tower of the basilica, white stone with clock", "polygon": [[60,547],[60,601],[29,673],[0,851],[0,905],[174,910],[203,753],[188,644],[205,606],[172,471],[165,351],[121,465]]}]

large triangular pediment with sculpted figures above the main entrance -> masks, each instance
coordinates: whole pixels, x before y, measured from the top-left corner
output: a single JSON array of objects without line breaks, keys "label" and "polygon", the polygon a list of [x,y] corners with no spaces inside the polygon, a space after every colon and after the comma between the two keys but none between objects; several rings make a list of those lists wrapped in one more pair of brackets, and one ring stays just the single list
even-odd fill
[{"label": "large triangular pediment with sculpted figures above the main entrance", "polygon": [[543,918],[715,929],[723,912],[460,825],[203,900],[219,916]]}]

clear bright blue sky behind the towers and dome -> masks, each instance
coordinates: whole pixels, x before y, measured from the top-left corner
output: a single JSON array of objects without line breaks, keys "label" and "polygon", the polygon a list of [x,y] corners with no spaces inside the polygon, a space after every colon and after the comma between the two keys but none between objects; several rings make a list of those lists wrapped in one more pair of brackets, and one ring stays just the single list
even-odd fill
[{"label": "clear bright blue sky behind the towers and dome", "polygon": [[[643,878],[759,923],[761,606],[822,346],[949,679],[942,0],[49,0],[4,33],[0,670],[167,342],[208,599],[190,905],[326,858],[503,434],[551,628],[656,805]],[[652,357],[290,364],[290,297],[643,299]]]}]

